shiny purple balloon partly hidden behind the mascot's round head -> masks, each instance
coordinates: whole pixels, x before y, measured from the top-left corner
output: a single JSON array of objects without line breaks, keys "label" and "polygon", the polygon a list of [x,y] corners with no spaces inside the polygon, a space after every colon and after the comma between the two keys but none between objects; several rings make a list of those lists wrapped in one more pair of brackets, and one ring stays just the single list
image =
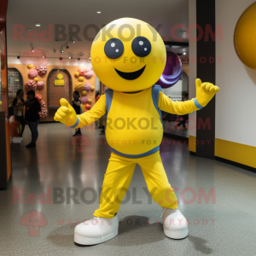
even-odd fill
[{"label": "shiny purple balloon partly hidden behind the mascot's round head", "polygon": [[166,52],[166,67],[160,76],[160,79],[155,83],[162,88],[172,87],[177,83],[182,73],[182,62],[178,55],[172,51]]}]

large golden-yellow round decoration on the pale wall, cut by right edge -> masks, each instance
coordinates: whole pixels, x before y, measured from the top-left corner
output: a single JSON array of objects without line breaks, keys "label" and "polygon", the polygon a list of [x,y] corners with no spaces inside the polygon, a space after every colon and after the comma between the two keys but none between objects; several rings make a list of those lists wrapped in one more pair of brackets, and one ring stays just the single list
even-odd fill
[{"label": "large golden-yellow round decoration on the pale wall, cut by right edge", "polygon": [[234,44],[241,62],[256,71],[256,2],[250,5],[236,24]]}]

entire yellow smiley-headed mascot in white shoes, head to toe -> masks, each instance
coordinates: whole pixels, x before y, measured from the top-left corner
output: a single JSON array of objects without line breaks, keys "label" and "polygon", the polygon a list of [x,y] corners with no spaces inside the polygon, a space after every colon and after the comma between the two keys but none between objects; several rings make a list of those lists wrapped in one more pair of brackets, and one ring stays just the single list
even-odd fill
[{"label": "entire yellow smiley-headed mascot in white shoes, head to toe", "polygon": [[91,46],[96,76],[108,86],[106,93],[86,113],[77,115],[67,100],[55,120],[72,128],[90,125],[106,113],[106,138],[111,148],[102,186],[101,203],[94,218],[78,224],[74,241],[82,245],[108,241],[118,235],[117,212],[131,182],[136,164],[141,166],[148,190],[163,207],[166,236],[188,236],[186,218],[177,208],[176,195],[160,159],[163,125],[160,111],[183,115],[207,105],[218,86],[196,79],[196,97],[172,102],[159,85],[166,66],[166,47],[158,32],[142,20],[113,20],[96,35]]}]

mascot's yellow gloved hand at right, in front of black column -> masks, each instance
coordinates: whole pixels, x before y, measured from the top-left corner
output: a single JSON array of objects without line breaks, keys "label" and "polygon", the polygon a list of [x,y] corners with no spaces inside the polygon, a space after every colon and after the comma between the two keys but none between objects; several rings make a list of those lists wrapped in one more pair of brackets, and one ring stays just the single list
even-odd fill
[{"label": "mascot's yellow gloved hand at right, in front of black column", "polygon": [[[201,83],[201,79],[195,80],[196,87],[196,100],[195,106],[197,108],[202,108],[207,106],[207,103],[212,100],[212,97],[218,92],[219,88],[211,83]],[[199,103],[197,106],[196,103]]]}]

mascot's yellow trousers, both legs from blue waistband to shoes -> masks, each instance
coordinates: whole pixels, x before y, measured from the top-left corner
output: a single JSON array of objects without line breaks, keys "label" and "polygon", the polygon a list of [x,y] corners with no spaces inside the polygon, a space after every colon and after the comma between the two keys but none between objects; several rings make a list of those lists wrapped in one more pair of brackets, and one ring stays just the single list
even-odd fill
[{"label": "mascot's yellow trousers, both legs from blue waistband to shoes", "polygon": [[111,153],[102,186],[100,208],[94,212],[94,216],[113,218],[119,211],[136,164],[143,170],[143,176],[153,200],[160,207],[177,208],[177,198],[166,177],[159,152],[140,158],[127,158]]}]

